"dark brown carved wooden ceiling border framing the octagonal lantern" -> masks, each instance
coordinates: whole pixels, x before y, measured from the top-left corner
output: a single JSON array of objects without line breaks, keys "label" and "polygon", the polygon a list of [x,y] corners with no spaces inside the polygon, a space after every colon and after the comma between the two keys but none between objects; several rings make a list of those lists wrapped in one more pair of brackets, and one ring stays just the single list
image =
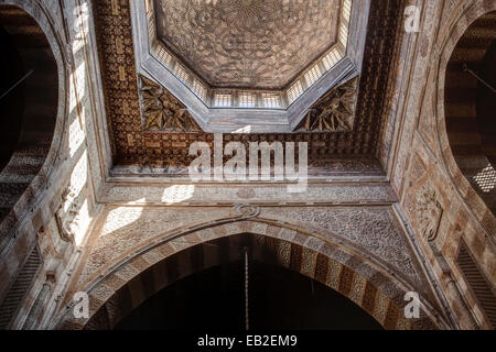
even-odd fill
[{"label": "dark brown carved wooden ceiling border framing the octagonal lantern", "polygon": [[[154,128],[147,128],[142,118],[144,106],[140,101],[143,98],[143,84],[134,64],[130,2],[101,0],[94,4],[115,172],[133,174],[158,169],[172,174],[184,173],[193,160],[188,156],[190,144],[205,141],[213,145],[213,134],[197,131],[197,125],[192,123],[187,111],[184,111],[185,107],[168,91],[152,99],[157,98],[159,106],[165,101],[169,107],[169,110],[159,112],[159,120],[173,117],[175,122],[166,124],[171,121],[155,121],[158,124]],[[402,8],[401,0],[371,1],[364,63],[357,81],[359,95],[355,105],[349,106],[345,88],[334,88],[335,91],[330,92],[334,96],[325,96],[310,109],[308,118],[293,133],[225,134],[226,143],[309,142],[310,169],[324,174],[331,170],[381,175],[376,153],[382,141],[385,120],[393,96],[391,87],[398,65]],[[336,101],[335,97],[341,97],[342,102]],[[349,107],[354,108],[353,127],[347,123],[347,119],[341,119]],[[188,125],[192,130],[179,132],[181,128],[177,127],[181,125]]]}]

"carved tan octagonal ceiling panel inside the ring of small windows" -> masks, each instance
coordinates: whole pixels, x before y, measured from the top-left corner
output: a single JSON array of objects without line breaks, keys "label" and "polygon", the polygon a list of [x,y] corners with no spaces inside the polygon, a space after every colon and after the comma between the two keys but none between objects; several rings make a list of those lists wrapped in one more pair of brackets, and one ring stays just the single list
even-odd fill
[{"label": "carved tan octagonal ceiling panel inside the ring of small windows", "polygon": [[282,89],[337,42],[341,0],[155,0],[157,33],[214,87]]}]

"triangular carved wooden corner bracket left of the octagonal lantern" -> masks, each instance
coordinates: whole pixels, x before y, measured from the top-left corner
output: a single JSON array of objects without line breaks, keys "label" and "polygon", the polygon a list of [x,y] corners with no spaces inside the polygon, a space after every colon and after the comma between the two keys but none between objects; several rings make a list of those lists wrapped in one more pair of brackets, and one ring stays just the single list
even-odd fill
[{"label": "triangular carved wooden corner bracket left of the octagonal lantern", "polygon": [[144,131],[203,132],[186,107],[165,88],[140,76],[140,100]]}]

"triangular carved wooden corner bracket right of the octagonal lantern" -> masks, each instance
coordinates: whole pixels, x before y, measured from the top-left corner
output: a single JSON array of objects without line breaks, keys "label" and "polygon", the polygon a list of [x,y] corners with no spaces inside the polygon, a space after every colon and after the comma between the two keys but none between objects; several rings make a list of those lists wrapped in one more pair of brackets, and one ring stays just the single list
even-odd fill
[{"label": "triangular carved wooden corner bracket right of the octagonal lantern", "polygon": [[353,129],[358,77],[330,90],[306,113],[294,132],[346,132]]}]

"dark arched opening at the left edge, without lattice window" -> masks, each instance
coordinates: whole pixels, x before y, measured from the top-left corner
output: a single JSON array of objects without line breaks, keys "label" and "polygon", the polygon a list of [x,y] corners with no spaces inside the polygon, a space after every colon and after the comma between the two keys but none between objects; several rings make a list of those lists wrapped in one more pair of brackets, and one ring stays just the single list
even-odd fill
[{"label": "dark arched opening at the left edge, without lattice window", "polygon": [[58,74],[43,30],[21,8],[0,4],[0,221],[12,223],[21,197],[34,197],[26,190],[52,144]]}]

